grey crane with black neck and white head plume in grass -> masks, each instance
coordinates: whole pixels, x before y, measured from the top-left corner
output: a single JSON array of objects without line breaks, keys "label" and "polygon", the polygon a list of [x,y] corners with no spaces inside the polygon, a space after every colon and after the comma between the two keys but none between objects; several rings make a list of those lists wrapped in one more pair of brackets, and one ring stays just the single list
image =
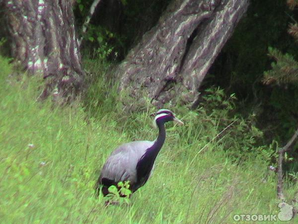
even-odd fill
[{"label": "grey crane with black neck and white head plume in grass", "polygon": [[99,195],[100,186],[104,196],[109,194],[111,185],[117,186],[118,182],[129,181],[132,193],[146,184],[153,168],[154,161],[165,140],[164,123],[176,121],[184,124],[175,117],[170,110],[161,109],[155,113],[154,122],[159,129],[154,141],[133,141],[116,148],[102,167],[96,182],[96,195]]}]

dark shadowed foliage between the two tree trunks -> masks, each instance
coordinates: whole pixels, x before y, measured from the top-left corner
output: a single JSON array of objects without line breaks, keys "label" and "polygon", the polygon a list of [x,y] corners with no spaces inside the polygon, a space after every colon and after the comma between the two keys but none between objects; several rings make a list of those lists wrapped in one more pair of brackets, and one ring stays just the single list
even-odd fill
[{"label": "dark shadowed foliage between the two tree trunks", "polygon": [[[92,57],[106,57],[108,61],[122,60],[137,44],[136,41],[157,22],[169,1],[101,1],[88,25],[81,50]],[[93,0],[77,2],[74,14],[77,27],[80,27]]]}]

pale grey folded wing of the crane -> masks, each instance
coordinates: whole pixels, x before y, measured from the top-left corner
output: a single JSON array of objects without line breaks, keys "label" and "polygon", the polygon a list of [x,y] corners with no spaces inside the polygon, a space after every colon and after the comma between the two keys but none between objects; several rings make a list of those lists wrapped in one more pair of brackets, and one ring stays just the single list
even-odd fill
[{"label": "pale grey folded wing of the crane", "polygon": [[118,147],[104,164],[101,178],[134,184],[137,181],[137,163],[152,144],[152,141],[133,141]]}]

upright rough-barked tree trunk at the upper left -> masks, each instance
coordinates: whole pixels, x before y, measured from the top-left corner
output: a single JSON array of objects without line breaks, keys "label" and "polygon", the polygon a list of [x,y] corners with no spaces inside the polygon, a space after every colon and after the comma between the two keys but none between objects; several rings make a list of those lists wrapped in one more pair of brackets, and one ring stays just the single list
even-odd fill
[{"label": "upright rough-barked tree trunk at the upper left", "polygon": [[73,0],[6,0],[12,56],[32,74],[47,80],[44,99],[72,100],[82,90],[74,30]]}]

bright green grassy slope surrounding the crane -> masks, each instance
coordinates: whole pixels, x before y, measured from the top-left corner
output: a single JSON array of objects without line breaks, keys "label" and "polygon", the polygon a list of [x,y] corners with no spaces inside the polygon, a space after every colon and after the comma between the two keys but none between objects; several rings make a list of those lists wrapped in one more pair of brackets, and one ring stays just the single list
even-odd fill
[{"label": "bright green grassy slope surrounding the crane", "polygon": [[[153,109],[112,111],[106,93],[97,96],[100,104],[90,103],[96,107],[93,117],[80,103],[40,103],[41,81],[15,81],[7,62],[0,57],[0,223],[209,224],[235,223],[235,214],[278,213],[276,176],[268,174],[265,157],[235,162],[230,154],[241,151],[241,139],[232,133],[241,124],[220,136],[218,115],[183,109],[175,112],[186,125],[167,125],[148,183],[128,206],[105,208],[101,196],[93,197],[100,168],[116,146],[156,137]],[[295,188],[286,189],[289,198]]]}]

